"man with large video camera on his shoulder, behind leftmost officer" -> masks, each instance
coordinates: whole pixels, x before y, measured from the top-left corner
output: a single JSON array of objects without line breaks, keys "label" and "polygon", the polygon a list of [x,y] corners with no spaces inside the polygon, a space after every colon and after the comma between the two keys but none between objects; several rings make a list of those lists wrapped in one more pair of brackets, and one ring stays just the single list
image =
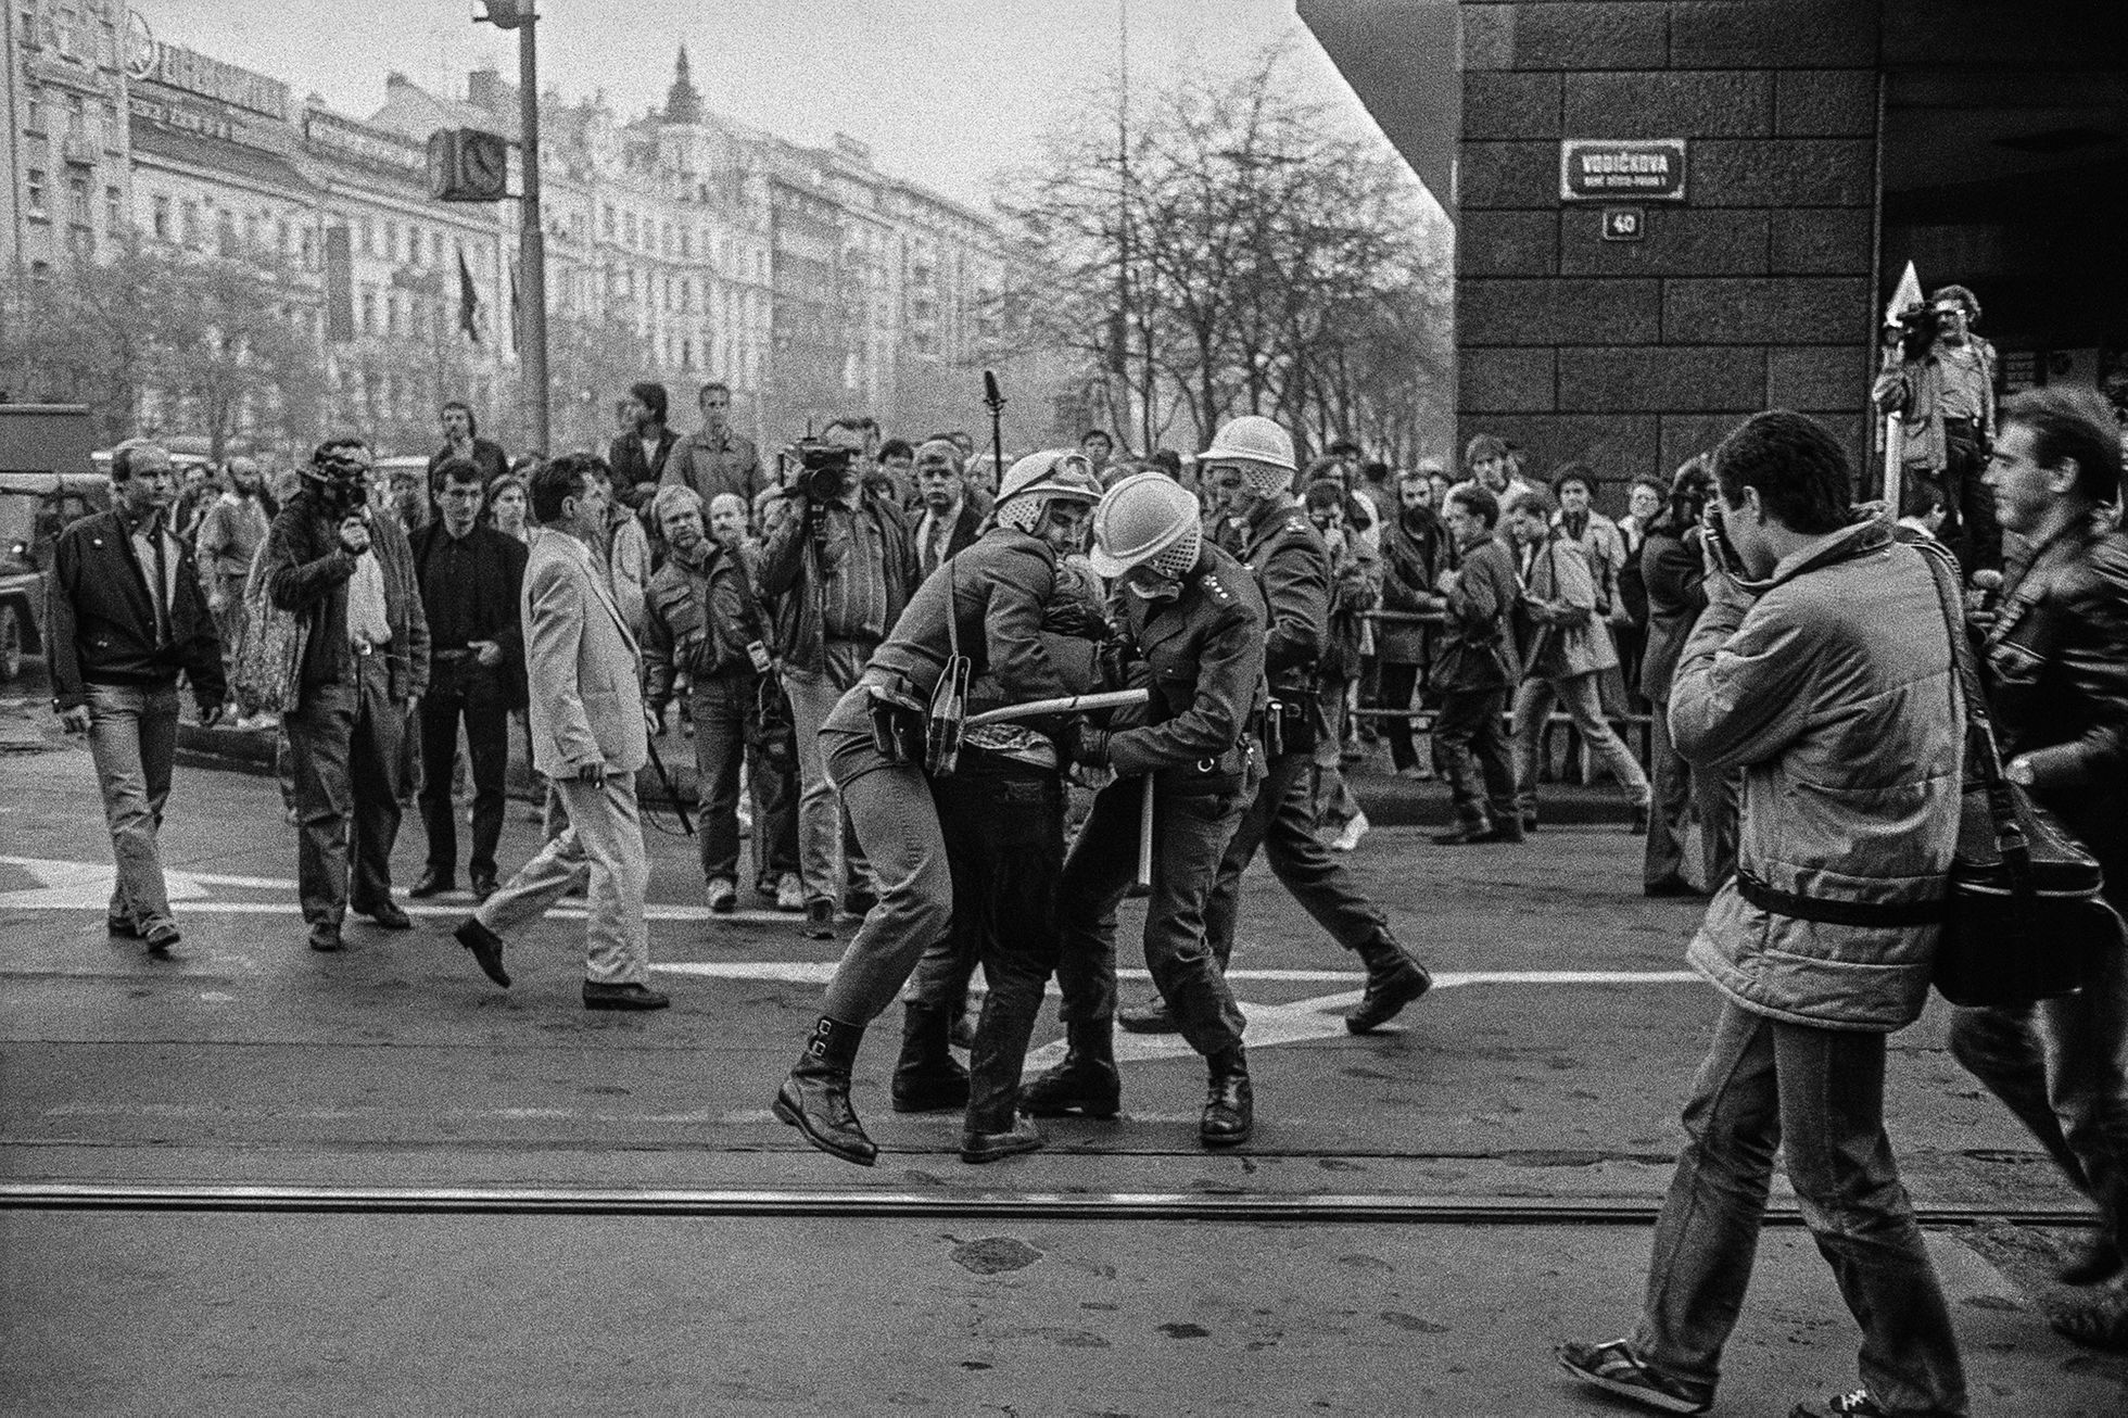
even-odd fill
[{"label": "man with large video camera on his shoulder, behind leftmost officer", "polygon": [[[841,809],[819,754],[819,726],[858,683],[915,590],[909,522],[864,485],[858,419],[828,424],[785,454],[789,479],[764,511],[760,592],[777,600],[777,654],[798,730],[798,875],[807,935],[830,939]],[[847,905],[868,907],[862,856],[849,854]]]}]

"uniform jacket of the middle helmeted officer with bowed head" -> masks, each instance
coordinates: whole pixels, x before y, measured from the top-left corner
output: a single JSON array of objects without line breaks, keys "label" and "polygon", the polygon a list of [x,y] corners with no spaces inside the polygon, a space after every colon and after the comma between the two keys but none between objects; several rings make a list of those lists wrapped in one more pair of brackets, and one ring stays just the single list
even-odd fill
[{"label": "uniform jacket of the middle helmeted officer with bowed head", "polygon": [[1204,764],[1202,777],[1245,773],[1243,735],[1264,705],[1266,613],[1256,579],[1207,545],[1177,600],[1121,592],[1115,605],[1138,656],[1130,681],[1153,692],[1143,711],[1113,720],[1115,771],[1158,771],[1164,784],[1200,775]]}]

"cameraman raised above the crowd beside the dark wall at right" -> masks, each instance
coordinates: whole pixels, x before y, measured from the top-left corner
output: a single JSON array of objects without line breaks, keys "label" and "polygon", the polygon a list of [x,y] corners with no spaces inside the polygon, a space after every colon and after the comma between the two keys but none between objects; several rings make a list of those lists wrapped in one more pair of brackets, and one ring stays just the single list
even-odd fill
[{"label": "cameraman raised above the crowd beside the dark wall at right", "polygon": [[[1966,575],[2002,568],[2002,528],[1981,473],[1996,436],[1996,351],[1973,334],[1979,298],[1945,285],[1898,317],[1898,364],[1877,377],[1871,400],[1905,424],[1902,466],[1924,477],[1949,509],[1943,541]],[[1894,509],[1898,513],[1902,509]]]}]

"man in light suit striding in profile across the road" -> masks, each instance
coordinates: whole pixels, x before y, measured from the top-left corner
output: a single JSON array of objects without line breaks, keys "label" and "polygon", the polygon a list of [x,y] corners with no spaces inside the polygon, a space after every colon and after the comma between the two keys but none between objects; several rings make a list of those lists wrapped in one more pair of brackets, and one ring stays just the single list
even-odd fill
[{"label": "man in light suit striding in profile across the road", "polygon": [[504,937],[589,877],[583,1007],[664,1009],[672,1001],[649,988],[643,922],[651,869],[636,811],[636,771],[649,758],[641,652],[594,551],[606,526],[609,481],[592,454],[555,458],[532,475],[541,530],[521,600],[532,766],[562,796],[568,826],[455,935],[489,979],[509,986]]}]

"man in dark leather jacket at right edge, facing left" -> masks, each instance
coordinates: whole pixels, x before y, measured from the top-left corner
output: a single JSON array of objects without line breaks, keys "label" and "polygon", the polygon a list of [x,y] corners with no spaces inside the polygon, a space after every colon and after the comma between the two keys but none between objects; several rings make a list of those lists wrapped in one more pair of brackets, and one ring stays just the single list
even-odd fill
[{"label": "man in dark leather jacket at right edge, facing left", "polygon": [[[2015,543],[1981,647],[2005,773],[2098,858],[2107,901],[2128,911],[2128,537],[2113,526],[2122,454],[2111,407],[2075,385],[2007,400],[1985,485]],[[1951,1052],[2098,1205],[2098,1231],[2062,1280],[2117,1275],[2128,1226],[2124,952],[2077,994],[1960,1009]],[[2113,1295],[2056,1326],[2119,1343],[2128,1303]]]}]

